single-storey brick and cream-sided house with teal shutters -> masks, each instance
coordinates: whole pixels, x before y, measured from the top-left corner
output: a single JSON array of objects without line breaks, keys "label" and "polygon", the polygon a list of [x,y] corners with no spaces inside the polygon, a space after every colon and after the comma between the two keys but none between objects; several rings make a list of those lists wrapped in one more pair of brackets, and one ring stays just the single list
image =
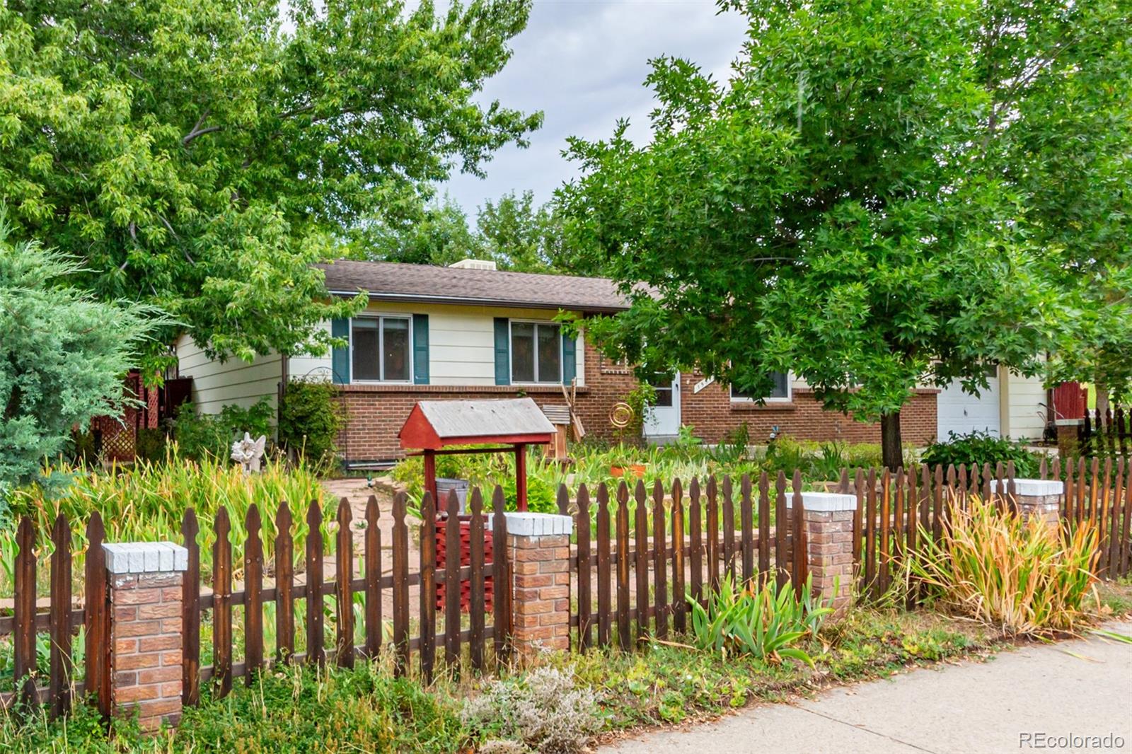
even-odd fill
[{"label": "single-storey brick and cream-sided house with teal shutters", "polygon": [[[361,315],[325,324],[349,348],[318,358],[273,354],[220,363],[182,337],[179,372],[194,378],[198,411],[275,400],[289,378],[328,379],[340,386],[349,413],[340,449],[348,462],[366,464],[401,454],[397,430],[418,401],[529,395],[540,404],[561,404],[563,385],[576,380],[576,409],[586,431],[611,438],[610,411],[635,379],[585,340],[584,326],[577,337],[567,337],[555,322],[560,310],[583,318],[624,310],[626,300],[611,281],[501,272],[479,260],[451,267],[336,262],[324,268],[331,294],[369,294]],[[696,436],[718,443],[746,422],[756,443],[772,432],[880,440],[877,425],[824,411],[804,380],[781,374],[775,380],[774,394],[760,404],[703,375],[676,375],[658,386],[644,434],[661,440],[692,425]],[[981,396],[958,386],[917,389],[901,425],[906,440],[916,444],[971,429],[1040,437],[1044,401],[1040,382],[996,371]]]}]

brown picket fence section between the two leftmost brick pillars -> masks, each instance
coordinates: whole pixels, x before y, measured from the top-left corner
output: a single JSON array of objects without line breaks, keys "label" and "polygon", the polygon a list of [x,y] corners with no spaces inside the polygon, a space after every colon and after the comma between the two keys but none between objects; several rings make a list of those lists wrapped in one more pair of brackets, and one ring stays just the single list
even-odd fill
[{"label": "brown picket fence section between the two leftmost brick pillars", "polygon": [[[436,566],[435,524],[437,511],[432,496],[424,494],[421,500],[420,529],[420,563],[419,569],[411,571],[409,563],[409,524],[405,521],[406,498],[398,494],[393,500],[393,542],[392,573],[383,575],[384,555],[381,548],[381,531],[379,529],[380,512],[377,498],[370,497],[366,507],[366,529],[362,531],[363,559],[362,568],[354,568],[354,531],[351,528],[350,503],[342,498],[338,503],[334,531],[334,565],[335,574],[332,581],[325,580],[325,548],[323,537],[323,511],[312,503],[307,508],[308,526],[306,552],[303,557],[303,583],[297,583],[294,573],[294,543],[291,511],[286,503],[280,505],[275,516],[275,585],[264,586],[264,557],[260,541],[261,522],[255,506],[248,509],[245,522],[248,539],[243,548],[243,589],[232,590],[232,542],[230,541],[230,522],[226,511],[218,512],[213,531],[213,574],[212,593],[201,594],[200,551],[197,542],[198,528],[192,511],[185,514],[181,533],[185,546],[189,550],[189,568],[185,574],[183,617],[185,617],[185,660],[182,665],[182,696],[185,704],[197,704],[200,699],[200,685],[211,682],[214,693],[223,696],[232,688],[233,678],[243,677],[251,683],[251,672],[263,669],[273,662],[307,662],[324,665],[333,661],[340,667],[353,667],[358,658],[372,658],[381,651],[385,619],[383,616],[383,599],[386,592],[392,594],[392,644],[394,653],[394,674],[404,675],[415,650],[420,662],[420,674],[424,683],[430,683],[436,669],[437,648],[444,650],[444,662],[447,670],[455,675],[462,663],[462,645],[468,644],[469,663],[473,670],[484,668],[487,641],[492,641],[496,662],[504,662],[508,652],[507,636],[511,631],[511,608],[506,594],[496,596],[494,603],[494,624],[486,624],[484,583],[488,577],[507,582],[506,558],[496,557],[492,562],[484,559],[484,521],[482,496],[479,489],[469,495],[471,511],[471,564],[461,566],[458,558],[447,558],[445,566]],[[503,490],[497,487],[492,507],[496,513],[504,511]],[[455,492],[446,500],[446,513],[449,521],[456,521],[460,504]],[[503,515],[491,517],[492,537],[495,541],[506,541],[507,522]],[[446,545],[448,551],[460,551],[460,528],[447,526]],[[496,552],[501,552],[497,548]],[[462,628],[461,601],[458,599],[460,582],[470,582],[471,610],[469,611],[469,628]],[[447,590],[455,593],[456,599],[445,601],[441,622],[441,633],[437,633],[437,586],[456,584]],[[410,586],[419,586],[418,634],[411,634],[410,620]],[[506,590],[500,590],[506,591]],[[365,596],[365,643],[354,645],[354,594]],[[333,596],[335,605],[334,645],[325,646],[324,600],[310,599],[311,596]],[[302,652],[295,651],[295,615],[294,601],[306,602],[306,646]],[[275,603],[275,657],[268,660],[264,657],[263,607]],[[243,606],[243,661],[233,661],[232,609]],[[200,666],[200,623],[201,617],[212,611],[212,646],[213,663]]]}]

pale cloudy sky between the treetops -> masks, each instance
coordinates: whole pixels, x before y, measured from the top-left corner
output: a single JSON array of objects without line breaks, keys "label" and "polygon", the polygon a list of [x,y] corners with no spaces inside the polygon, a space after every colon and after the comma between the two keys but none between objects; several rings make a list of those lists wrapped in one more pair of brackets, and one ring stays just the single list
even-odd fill
[{"label": "pale cloudy sky between the treetops", "polygon": [[541,110],[542,128],[526,149],[497,152],[486,179],[456,174],[440,190],[473,216],[484,199],[508,191],[550,199],[576,174],[560,154],[566,137],[608,138],[617,119],[628,118],[629,137],[648,139],[650,58],[686,58],[726,80],[745,28],[743,16],[719,15],[713,0],[534,0],[526,29],[512,40],[514,55],[480,98]]}]

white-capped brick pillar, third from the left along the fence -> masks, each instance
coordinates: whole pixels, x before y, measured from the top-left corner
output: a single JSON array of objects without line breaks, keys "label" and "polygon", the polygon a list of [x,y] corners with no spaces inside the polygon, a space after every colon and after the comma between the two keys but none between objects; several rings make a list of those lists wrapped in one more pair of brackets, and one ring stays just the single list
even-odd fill
[{"label": "white-capped brick pillar, third from the left along the fence", "polygon": [[[792,496],[787,495],[787,508],[791,502]],[[806,563],[814,592],[823,599],[832,597],[833,608],[840,610],[852,597],[852,517],[857,511],[857,498],[834,492],[803,492],[801,504],[806,524]]]}]

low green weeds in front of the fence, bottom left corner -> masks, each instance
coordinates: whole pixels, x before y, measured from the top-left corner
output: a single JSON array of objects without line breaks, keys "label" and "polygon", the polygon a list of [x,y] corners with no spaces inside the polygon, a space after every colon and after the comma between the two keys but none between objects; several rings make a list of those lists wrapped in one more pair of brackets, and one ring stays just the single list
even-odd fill
[{"label": "low green weeds in front of the fence, bottom left corner", "polygon": [[115,718],[108,732],[94,708],[48,720],[0,712],[6,752],[458,752],[470,751],[458,706],[443,689],[394,678],[380,663],[260,674],[222,700],[185,708],[181,723],[153,738]]}]

